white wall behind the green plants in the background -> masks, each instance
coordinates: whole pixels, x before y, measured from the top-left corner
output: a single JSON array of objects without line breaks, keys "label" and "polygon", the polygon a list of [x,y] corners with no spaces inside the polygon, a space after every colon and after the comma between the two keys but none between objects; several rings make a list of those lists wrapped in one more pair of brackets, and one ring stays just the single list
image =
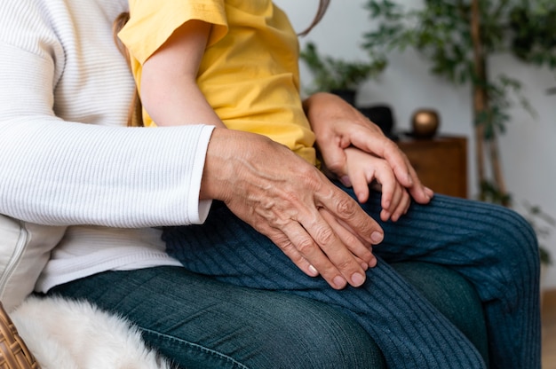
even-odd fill
[{"label": "white wall behind the green plants in the background", "polygon": [[[296,30],[310,23],[318,0],[275,0],[288,13]],[[420,6],[422,0],[404,0],[407,6]],[[301,43],[313,41],[319,51],[345,59],[366,59],[361,50],[362,35],[373,27],[364,0],[331,1],[322,23]],[[454,87],[440,77],[430,75],[428,64],[414,51],[390,58],[390,66],[378,81],[361,86],[358,104],[386,103],[393,106],[398,130],[409,130],[412,112],[419,107],[433,107],[441,114],[441,132],[469,137],[470,196],[477,193],[473,159],[471,94],[467,87]],[[540,205],[556,217],[556,95],[544,91],[556,86],[556,72],[536,70],[510,57],[491,61],[491,73],[513,75],[525,83],[524,92],[535,107],[533,119],[519,108],[512,109],[512,122],[501,137],[502,161],[508,188],[516,208],[523,201]],[[301,64],[301,79],[309,83],[310,75]],[[552,250],[556,261],[556,230],[543,243]],[[546,286],[556,288],[556,263],[548,273]]]}]

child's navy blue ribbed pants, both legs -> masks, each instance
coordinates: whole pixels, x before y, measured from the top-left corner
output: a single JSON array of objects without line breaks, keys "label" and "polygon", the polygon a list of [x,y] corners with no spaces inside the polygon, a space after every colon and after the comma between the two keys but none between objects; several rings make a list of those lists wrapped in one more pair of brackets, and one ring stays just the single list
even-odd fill
[{"label": "child's navy blue ribbed pants, both legs", "polygon": [[[344,190],[353,196],[350,189]],[[362,204],[378,219],[380,194]],[[465,277],[481,298],[493,368],[540,368],[536,235],[514,211],[436,195],[412,204],[396,223],[381,223],[373,248],[377,267],[362,287],[337,291],[307,277],[265,236],[218,203],[203,225],[167,228],[168,253],[187,270],[229,284],[281,291],[325,302],[354,318],[393,368],[481,368],[464,334],[394,271],[389,263],[436,263]]]}]

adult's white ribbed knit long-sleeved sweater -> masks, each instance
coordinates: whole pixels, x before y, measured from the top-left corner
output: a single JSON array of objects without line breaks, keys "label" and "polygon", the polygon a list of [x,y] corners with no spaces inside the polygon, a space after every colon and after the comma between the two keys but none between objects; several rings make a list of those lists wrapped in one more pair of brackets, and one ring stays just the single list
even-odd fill
[{"label": "adult's white ribbed knit long-sleeved sweater", "polygon": [[198,200],[210,126],[124,127],[133,81],[111,26],[126,8],[0,1],[0,214],[35,240],[60,232],[28,244],[55,247],[38,291],[178,264],[151,227],[202,223],[210,207]]}]

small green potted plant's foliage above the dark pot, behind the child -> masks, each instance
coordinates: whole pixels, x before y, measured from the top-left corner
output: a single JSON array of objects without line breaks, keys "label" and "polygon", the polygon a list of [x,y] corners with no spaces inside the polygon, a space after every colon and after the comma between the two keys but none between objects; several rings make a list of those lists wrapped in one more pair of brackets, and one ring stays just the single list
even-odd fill
[{"label": "small green potted plant's foliage above the dark pot, behind the child", "polygon": [[306,43],[300,52],[300,59],[306,63],[313,75],[313,86],[309,93],[328,91],[355,105],[355,94],[361,82],[379,75],[385,68],[385,60],[370,62],[346,61],[319,54],[314,43]]}]

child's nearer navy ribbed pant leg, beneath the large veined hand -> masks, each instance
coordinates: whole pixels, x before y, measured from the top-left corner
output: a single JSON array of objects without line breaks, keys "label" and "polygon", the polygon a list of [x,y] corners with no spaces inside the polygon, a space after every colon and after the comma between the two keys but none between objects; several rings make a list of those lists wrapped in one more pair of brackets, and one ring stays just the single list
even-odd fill
[{"label": "child's nearer navy ribbed pant leg, beneath the large veined hand", "polygon": [[338,306],[369,332],[389,367],[484,367],[473,344],[382,261],[362,287],[334,290],[321,278],[307,277],[225,207],[213,208],[202,226],[166,229],[163,239],[169,254],[190,271]]}]

